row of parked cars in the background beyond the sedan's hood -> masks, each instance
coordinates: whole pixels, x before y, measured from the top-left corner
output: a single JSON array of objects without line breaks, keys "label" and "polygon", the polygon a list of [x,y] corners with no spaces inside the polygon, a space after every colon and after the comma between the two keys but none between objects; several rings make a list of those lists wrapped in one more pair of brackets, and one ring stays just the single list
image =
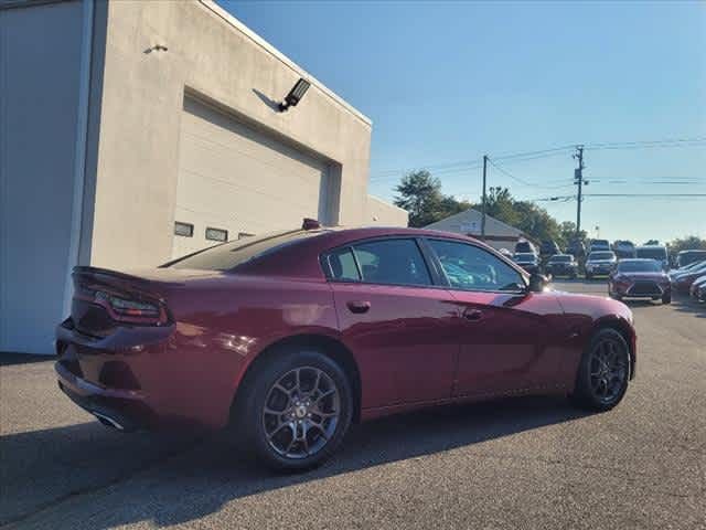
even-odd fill
[{"label": "row of parked cars in the background beyond the sedan's hood", "polygon": [[[552,250],[557,252],[542,259],[542,253],[524,241],[517,243],[513,258],[528,273],[578,277],[577,256],[560,253],[558,247]],[[706,250],[682,251],[673,257],[674,267],[670,269],[665,246],[635,247],[630,242],[617,242],[611,248],[608,241],[593,240],[582,268],[587,279],[607,276],[608,294],[617,299],[652,298],[670,304],[674,290],[689,293],[697,300],[706,301]]]}]

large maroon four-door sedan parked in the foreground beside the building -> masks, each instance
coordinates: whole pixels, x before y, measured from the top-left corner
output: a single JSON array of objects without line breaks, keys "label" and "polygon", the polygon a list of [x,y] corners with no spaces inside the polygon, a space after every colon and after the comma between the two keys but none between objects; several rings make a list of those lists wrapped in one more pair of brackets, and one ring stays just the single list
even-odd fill
[{"label": "large maroon four-door sedan parked in the foreground beside the building", "polygon": [[545,290],[463,236],[308,227],[150,271],[76,267],[61,389],[122,431],[232,425],[286,469],[330,456],[351,422],[534,393],[606,411],[625,393],[623,304]]}]

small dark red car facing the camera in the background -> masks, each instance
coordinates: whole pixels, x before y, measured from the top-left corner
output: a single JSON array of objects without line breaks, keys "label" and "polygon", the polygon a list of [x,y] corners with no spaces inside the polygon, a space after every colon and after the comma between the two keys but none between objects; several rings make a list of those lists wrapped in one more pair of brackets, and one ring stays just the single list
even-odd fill
[{"label": "small dark red car facing the camera in the background", "polygon": [[651,298],[672,303],[670,277],[655,259],[621,259],[608,277],[608,295],[611,298]]}]

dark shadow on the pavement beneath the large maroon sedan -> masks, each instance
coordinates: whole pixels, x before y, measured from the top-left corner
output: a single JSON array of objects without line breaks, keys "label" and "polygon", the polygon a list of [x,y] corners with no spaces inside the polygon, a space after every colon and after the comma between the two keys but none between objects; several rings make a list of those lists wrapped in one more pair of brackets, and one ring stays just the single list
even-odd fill
[{"label": "dark shadow on the pavement beneath the large maroon sedan", "polygon": [[[174,442],[157,439],[159,436],[156,434],[124,436],[108,432],[109,435],[92,435],[88,431],[96,428],[97,424],[82,424],[4,436],[2,451],[6,455],[13,451],[26,453],[30,451],[28,447],[40,441],[51,451],[52,438],[58,438],[64,441],[57,446],[61,453],[45,455],[45,458],[69,463],[63,469],[64,474],[72,473],[73,466],[76,466],[75,473],[85,473],[90,466],[103,468],[94,470],[97,478],[77,485],[57,496],[54,502],[46,502],[38,509],[55,506],[58,517],[66,513],[68,518],[72,517],[72,505],[61,501],[74,502],[75,508],[75,502],[79,501],[77,496],[87,494],[88,498],[83,501],[90,506],[87,513],[92,518],[84,521],[86,528],[107,529],[140,521],[171,526],[215,513],[224,505],[247,496],[286,487],[297,488],[308,481],[452,451],[585,415],[563,396],[513,398],[396,415],[354,425],[338,455],[321,468],[299,475],[267,470],[252,457],[239,454],[225,434],[199,443]],[[75,443],[65,443],[76,436],[79,439]],[[150,436],[156,438],[154,444],[149,443]],[[93,443],[92,437],[95,438]],[[154,453],[156,445],[164,449]],[[145,452],[143,456],[141,452]],[[121,455],[132,455],[139,464],[131,460],[124,468]],[[52,469],[56,471],[56,468],[49,466],[47,469],[41,463],[32,465],[22,480],[54,481],[58,491],[66,477],[52,474]],[[6,471],[3,483],[4,475]],[[44,486],[51,487],[51,484]],[[13,487],[12,491],[26,495],[22,485]],[[25,510],[25,515],[31,511],[36,509]],[[15,516],[14,519],[23,517]],[[50,512],[47,517],[57,516]]]}]

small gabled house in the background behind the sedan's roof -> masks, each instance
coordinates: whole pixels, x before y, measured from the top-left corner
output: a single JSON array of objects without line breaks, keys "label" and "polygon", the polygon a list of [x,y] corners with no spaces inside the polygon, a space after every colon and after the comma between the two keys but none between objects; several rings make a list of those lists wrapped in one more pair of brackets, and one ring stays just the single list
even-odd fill
[{"label": "small gabled house in the background behind the sedan's roof", "polygon": [[[481,240],[481,223],[483,214],[478,210],[469,209],[449,218],[431,223],[425,229],[441,230],[454,234],[470,235]],[[520,229],[498,221],[490,215],[485,215],[485,237],[483,241],[493,248],[507,248],[514,252],[515,244],[521,240],[530,241]]]}]

